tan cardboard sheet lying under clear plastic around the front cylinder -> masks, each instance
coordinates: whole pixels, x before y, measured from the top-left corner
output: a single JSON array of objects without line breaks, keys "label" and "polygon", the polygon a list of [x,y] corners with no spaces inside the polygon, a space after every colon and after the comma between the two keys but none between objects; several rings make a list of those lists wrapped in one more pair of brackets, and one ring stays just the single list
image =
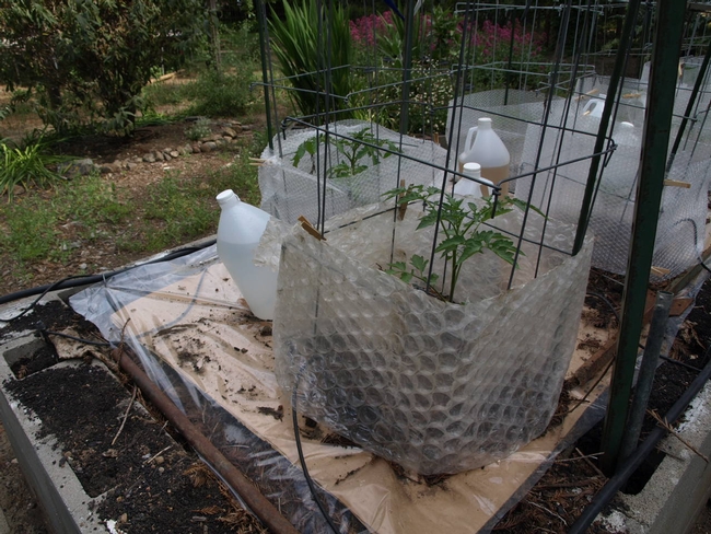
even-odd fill
[{"label": "tan cardboard sheet lying under clear plastic around the front cylinder", "polygon": [[[113,340],[119,340],[123,332],[159,355],[299,465],[290,403],[273,374],[271,324],[249,313],[214,248],[147,266],[144,272],[126,272],[75,295],[71,303]],[[591,338],[604,343],[606,336],[583,321],[580,349],[569,372],[590,357],[590,347],[596,345]],[[598,385],[561,425],[508,458],[436,484],[359,448],[323,444],[320,439],[329,431],[320,427],[302,434],[304,454],[316,483],[371,532],[486,532],[525,496],[562,449],[602,418],[599,396],[605,388]],[[584,393],[570,392],[573,399]]]}]

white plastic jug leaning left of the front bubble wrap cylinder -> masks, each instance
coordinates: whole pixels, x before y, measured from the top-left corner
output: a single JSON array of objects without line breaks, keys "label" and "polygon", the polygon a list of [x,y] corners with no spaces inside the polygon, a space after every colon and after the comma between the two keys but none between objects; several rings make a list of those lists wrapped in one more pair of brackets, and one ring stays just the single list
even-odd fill
[{"label": "white plastic jug leaning left of the front bubble wrap cylinder", "polygon": [[241,201],[232,189],[220,193],[217,200],[222,209],[218,225],[218,256],[252,313],[261,320],[271,320],[277,300],[277,272],[254,265],[254,252],[270,216]]}]

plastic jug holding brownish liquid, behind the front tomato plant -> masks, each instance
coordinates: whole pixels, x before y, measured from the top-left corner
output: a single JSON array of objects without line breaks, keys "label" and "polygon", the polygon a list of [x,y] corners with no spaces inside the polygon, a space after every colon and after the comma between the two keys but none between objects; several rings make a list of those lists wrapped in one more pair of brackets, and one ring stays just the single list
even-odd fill
[{"label": "plastic jug holding brownish liquid, behind the front tomato plant", "polygon": [[[506,146],[491,127],[489,117],[481,117],[477,126],[469,128],[464,152],[459,154],[459,169],[465,163],[476,162],[481,165],[481,176],[493,184],[500,184],[509,177],[511,155]],[[509,193],[509,184],[502,186],[501,193]]]}]

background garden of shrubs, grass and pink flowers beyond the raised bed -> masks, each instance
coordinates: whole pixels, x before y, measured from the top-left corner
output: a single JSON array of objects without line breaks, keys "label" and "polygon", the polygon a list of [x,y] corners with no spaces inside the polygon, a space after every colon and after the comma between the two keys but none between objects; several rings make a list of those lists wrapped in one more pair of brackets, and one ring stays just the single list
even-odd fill
[{"label": "background garden of shrubs, grass and pink flowers beyond the raised bed", "polygon": [[[342,109],[403,128],[401,9],[267,2],[277,74],[284,85],[313,89],[319,80],[303,73],[328,61]],[[338,44],[327,58],[317,34],[325,16]],[[442,134],[463,18],[454,1],[444,1],[416,21],[406,129]],[[513,19],[478,24],[473,60],[531,62],[555,46],[549,36],[558,18],[553,13],[536,35]],[[512,48],[493,45],[509,42]],[[263,90],[254,85],[260,79],[252,0],[0,1],[0,291],[110,269],[209,235],[219,218],[214,195],[224,188],[258,204],[249,158],[268,140]],[[490,89],[508,81],[491,74],[474,83]],[[281,116],[307,116],[326,105],[288,91],[277,102]],[[62,175],[67,160],[110,163],[180,139],[189,143],[225,125],[238,125],[242,134],[217,152]]]}]

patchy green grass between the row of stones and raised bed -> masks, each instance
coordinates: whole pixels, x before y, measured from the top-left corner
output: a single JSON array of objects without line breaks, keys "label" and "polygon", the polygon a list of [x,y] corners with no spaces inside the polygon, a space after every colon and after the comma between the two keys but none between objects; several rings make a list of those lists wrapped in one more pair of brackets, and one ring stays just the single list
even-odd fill
[{"label": "patchy green grass between the row of stones and raised bed", "polygon": [[223,156],[229,165],[219,171],[166,174],[136,197],[98,175],[31,191],[0,206],[0,248],[22,270],[34,262],[67,262],[100,240],[115,242],[118,252],[148,255],[212,234],[220,219],[214,197],[221,190],[234,189],[244,201],[259,205],[257,170],[249,165],[247,148]]}]

